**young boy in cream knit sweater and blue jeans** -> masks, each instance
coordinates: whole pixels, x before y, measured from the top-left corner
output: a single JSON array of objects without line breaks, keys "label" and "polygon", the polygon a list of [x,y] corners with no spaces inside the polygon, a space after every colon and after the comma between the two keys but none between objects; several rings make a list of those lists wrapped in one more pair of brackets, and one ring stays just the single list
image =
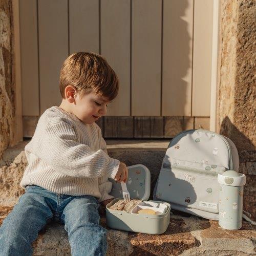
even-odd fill
[{"label": "young boy in cream knit sweater and blue jeans", "polygon": [[50,220],[65,224],[72,255],[105,255],[107,230],[99,225],[112,183],[127,180],[127,167],[110,158],[100,127],[118,78],[94,53],[70,55],[60,71],[60,106],[41,115],[26,145],[28,166],[19,198],[0,228],[0,255],[31,255],[32,242]]}]

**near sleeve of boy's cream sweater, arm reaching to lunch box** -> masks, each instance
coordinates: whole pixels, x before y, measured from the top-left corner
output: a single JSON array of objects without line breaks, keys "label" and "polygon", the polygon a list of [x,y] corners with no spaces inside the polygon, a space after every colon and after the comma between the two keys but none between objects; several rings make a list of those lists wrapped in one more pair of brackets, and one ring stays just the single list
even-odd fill
[{"label": "near sleeve of boy's cream sweater, arm reaching to lunch box", "polygon": [[94,152],[77,142],[75,130],[66,120],[48,123],[32,150],[56,172],[71,177],[114,178],[120,163],[103,150]]}]

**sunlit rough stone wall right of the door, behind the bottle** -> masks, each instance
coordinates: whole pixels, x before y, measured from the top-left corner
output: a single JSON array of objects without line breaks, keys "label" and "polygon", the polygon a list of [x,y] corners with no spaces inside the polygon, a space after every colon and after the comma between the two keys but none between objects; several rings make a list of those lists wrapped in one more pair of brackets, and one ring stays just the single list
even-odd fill
[{"label": "sunlit rough stone wall right of the door, behind the bottle", "polygon": [[[255,57],[256,1],[222,0],[218,131],[236,144],[246,174],[244,209],[256,218]],[[218,132],[217,131],[217,132]]]}]

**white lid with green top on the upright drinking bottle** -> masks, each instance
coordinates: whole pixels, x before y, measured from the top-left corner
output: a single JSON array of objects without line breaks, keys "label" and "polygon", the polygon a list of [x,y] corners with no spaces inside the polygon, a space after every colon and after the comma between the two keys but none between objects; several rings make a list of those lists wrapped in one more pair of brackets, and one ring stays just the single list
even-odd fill
[{"label": "white lid with green top on the upright drinking bottle", "polygon": [[218,182],[227,186],[244,186],[246,177],[235,170],[226,170],[223,174],[218,174]]}]

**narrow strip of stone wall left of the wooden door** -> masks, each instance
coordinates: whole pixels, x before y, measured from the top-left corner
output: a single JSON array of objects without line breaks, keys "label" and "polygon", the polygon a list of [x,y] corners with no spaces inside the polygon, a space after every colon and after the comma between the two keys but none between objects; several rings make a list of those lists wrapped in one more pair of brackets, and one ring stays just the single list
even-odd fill
[{"label": "narrow strip of stone wall left of the wooden door", "polygon": [[12,1],[0,0],[0,158],[14,139],[14,81]]}]

